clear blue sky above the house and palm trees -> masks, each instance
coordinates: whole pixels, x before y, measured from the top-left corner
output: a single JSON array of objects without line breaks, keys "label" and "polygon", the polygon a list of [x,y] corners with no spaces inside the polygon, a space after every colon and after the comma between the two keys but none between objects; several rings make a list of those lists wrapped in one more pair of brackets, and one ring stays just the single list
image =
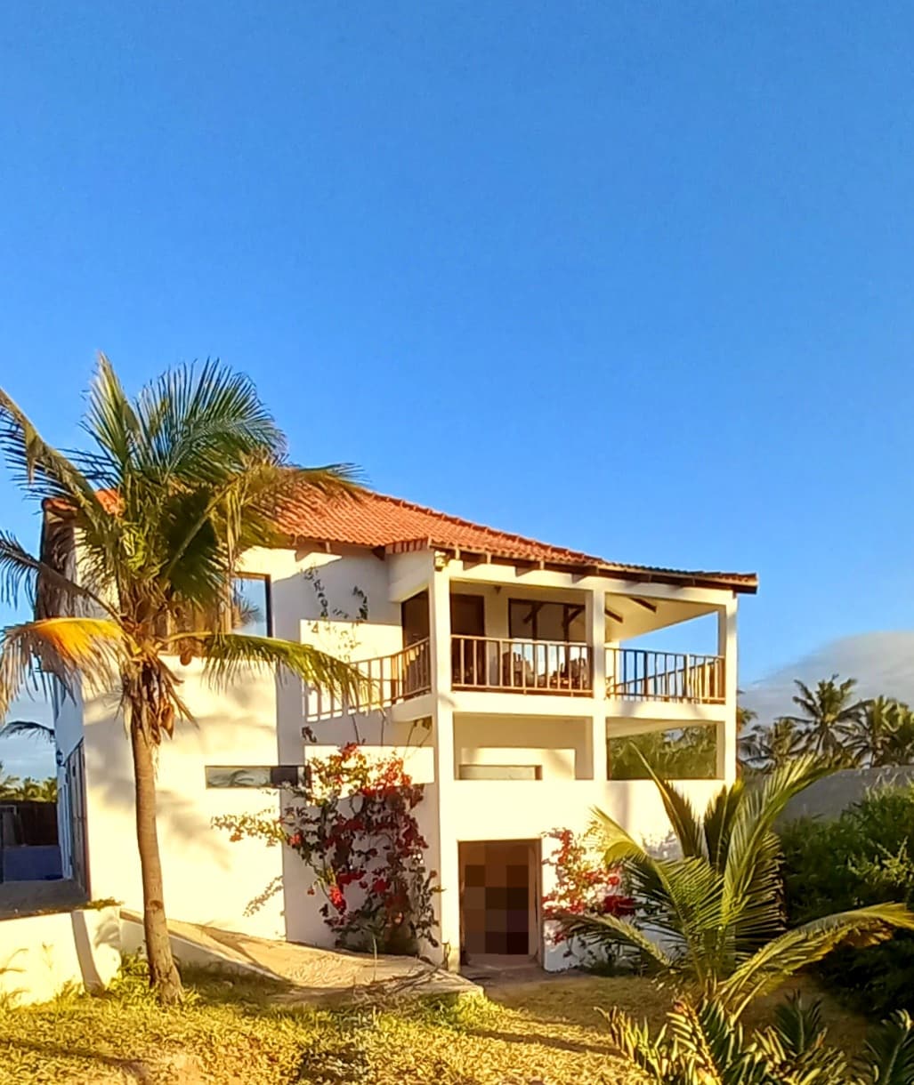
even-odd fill
[{"label": "clear blue sky above the house and palm trees", "polygon": [[0,383],[66,445],[97,349],[219,356],[303,462],[756,570],[744,684],[909,628],[913,52],[890,2],[10,3]]}]

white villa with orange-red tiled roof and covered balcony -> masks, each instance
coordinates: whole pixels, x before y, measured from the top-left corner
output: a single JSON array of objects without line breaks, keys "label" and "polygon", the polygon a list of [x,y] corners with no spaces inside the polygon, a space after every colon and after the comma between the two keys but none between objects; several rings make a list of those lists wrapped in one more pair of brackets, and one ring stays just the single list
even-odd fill
[{"label": "white villa with orange-red tiled roof and covered balcony", "polygon": [[[358,662],[382,703],[261,674],[216,692],[198,663],[175,660],[196,725],[179,726],[158,762],[169,917],[331,945],[300,857],[231,843],[212,819],[278,815],[277,784],[359,738],[397,748],[426,786],[417,813],[450,967],[563,967],[542,918],[544,834],[583,829],[599,806],[645,840],[667,837],[652,783],[613,778],[626,736],[704,729],[711,760],[685,783],[702,806],[734,778],[737,596],[756,576],[619,564],[381,495],[294,508],[280,526],[285,548],[245,558],[261,628]],[[55,733],[65,873],[141,910],[116,699],[61,700]]]}]

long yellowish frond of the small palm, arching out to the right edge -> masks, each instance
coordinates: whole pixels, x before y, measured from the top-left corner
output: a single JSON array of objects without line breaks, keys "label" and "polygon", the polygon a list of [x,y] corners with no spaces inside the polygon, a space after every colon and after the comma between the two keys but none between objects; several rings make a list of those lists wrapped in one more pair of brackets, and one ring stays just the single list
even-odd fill
[{"label": "long yellowish frond of the small palm, arching out to the right edge", "polygon": [[878,904],[839,911],[804,923],[773,939],[721,981],[720,996],[741,1013],[758,995],[774,991],[807,965],[822,960],[836,946],[876,945],[896,930],[914,930],[914,912],[902,904]]}]

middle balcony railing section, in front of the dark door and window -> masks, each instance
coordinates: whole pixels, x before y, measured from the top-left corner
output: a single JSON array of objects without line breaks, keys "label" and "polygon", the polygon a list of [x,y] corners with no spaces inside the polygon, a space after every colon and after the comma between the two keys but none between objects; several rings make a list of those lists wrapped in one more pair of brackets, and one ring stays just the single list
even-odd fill
[{"label": "middle balcony railing section, in front of the dark door and window", "polygon": [[499,637],[452,637],[450,642],[455,689],[591,694],[588,644]]}]

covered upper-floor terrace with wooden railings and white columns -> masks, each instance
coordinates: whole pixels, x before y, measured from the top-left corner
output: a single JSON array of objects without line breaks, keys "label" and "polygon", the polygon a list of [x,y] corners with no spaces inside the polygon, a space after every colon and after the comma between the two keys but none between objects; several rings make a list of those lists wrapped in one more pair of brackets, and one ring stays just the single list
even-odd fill
[{"label": "covered upper-floor terrace with wooden railings and white columns", "polygon": [[[732,596],[706,590],[702,599],[693,589],[691,598],[676,598],[648,585],[637,593],[601,584],[536,587],[519,577],[498,583],[491,569],[472,578],[467,572],[461,563],[447,577],[446,613],[432,604],[433,588],[402,600],[403,647],[359,662],[364,703],[318,695],[312,711],[392,707],[433,687],[457,703],[467,703],[467,694],[496,695],[490,707],[505,712],[521,711],[511,698],[524,699],[524,712],[547,711],[550,699],[576,701],[572,711],[582,713],[587,707],[580,702],[594,700],[609,713],[631,703],[661,711],[725,704],[727,668],[736,666]],[[564,703],[560,711],[568,710]]]}]

